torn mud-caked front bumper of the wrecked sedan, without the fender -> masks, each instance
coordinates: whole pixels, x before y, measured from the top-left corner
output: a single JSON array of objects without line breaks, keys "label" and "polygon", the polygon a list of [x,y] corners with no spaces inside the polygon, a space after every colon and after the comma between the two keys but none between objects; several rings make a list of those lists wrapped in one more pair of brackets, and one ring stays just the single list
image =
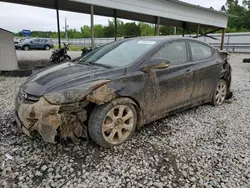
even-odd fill
[{"label": "torn mud-caked front bumper of the wrecked sedan, without the fender", "polygon": [[86,111],[60,111],[60,105],[52,105],[41,97],[38,102],[27,103],[17,97],[15,118],[18,126],[28,136],[37,131],[44,141],[55,143],[59,137],[87,137]]}]

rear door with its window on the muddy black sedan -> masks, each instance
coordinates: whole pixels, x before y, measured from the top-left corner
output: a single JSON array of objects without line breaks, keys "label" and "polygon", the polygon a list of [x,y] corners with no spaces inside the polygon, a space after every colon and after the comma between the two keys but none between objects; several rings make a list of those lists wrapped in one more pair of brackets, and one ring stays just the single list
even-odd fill
[{"label": "rear door with its window on the muddy black sedan", "polygon": [[222,63],[218,61],[215,49],[204,43],[189,41],[194,63],[195,87],[192,98],[208,101],[219,80]]}]

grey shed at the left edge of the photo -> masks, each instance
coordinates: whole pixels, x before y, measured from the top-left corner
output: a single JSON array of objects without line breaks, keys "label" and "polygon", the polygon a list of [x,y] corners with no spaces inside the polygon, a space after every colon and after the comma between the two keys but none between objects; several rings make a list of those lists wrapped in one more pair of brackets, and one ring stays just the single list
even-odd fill
[{"label": "grey shed at the left edge of the photo", "polygon": [[0,28],[0,71],[18,69],[13,33]]}]

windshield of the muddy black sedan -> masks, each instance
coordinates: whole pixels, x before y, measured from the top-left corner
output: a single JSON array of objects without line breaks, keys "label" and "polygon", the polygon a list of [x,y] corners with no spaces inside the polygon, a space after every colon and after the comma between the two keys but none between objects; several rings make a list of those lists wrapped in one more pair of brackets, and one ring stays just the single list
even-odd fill
[{"label": "windshield of the muddy black sedan", "polygon": [[157,41],[123,40],[107,44],[79,59],[80,63],[93,63],[110,67],[124,67],[152,49]]}]

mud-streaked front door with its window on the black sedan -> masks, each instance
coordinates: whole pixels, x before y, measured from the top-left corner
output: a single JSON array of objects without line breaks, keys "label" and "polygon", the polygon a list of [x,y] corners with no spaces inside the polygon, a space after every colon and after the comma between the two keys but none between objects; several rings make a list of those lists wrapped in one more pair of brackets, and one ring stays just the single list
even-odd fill
[{"label": "mud-streaked front door with its window on the black sedan", "polygon": [[147,87],[152,87],[148,96],[148,109],[154,117],[185,106],[194,89],[194,72],[190,63],[185,40],[163,46],[150,59],[162,58],[170,61],[166,69],[152,69],[147,72]]}]

